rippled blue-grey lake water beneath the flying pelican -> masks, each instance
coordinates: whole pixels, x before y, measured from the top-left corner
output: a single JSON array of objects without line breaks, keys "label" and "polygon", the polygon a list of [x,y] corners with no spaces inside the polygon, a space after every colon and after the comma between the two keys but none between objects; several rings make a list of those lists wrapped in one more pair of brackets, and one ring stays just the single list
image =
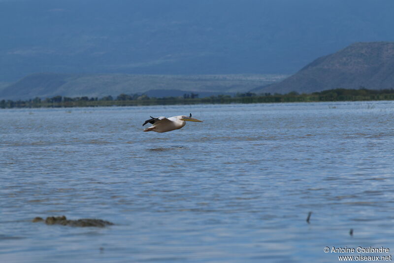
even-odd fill
[{"label": "rippled blue-grey lake water beneath the flying pelican", "polygon": [[[0,262],[389,256],[393,152],[394,102],[0,110]],[[32,223],[61,215],[115,225]]]}]

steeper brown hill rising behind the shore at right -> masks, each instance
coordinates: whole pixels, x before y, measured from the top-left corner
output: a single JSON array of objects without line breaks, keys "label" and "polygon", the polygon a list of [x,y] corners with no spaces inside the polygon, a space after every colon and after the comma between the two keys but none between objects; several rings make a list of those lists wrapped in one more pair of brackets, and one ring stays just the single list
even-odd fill
[{"label": "steeper brown hill rising behind the shore at right", "polygon": [[314,92],[333,88],[394,88],[394,42],[352,44],[323,56],[281,82],[253,92]]}]

